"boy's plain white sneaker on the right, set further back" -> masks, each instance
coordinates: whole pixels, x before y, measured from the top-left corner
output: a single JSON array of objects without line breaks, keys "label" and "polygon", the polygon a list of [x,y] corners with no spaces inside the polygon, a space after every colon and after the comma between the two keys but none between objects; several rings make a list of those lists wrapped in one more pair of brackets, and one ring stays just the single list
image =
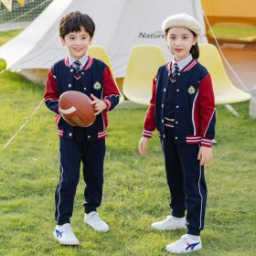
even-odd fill
[{"label": "boy's plain white sneaker on the right, set further back", "polygon": [[84,214],[84,222],[91,226],[92,229],[99,232],[107,232],[110,228],[109,225],[103,221],[96,211]]}]

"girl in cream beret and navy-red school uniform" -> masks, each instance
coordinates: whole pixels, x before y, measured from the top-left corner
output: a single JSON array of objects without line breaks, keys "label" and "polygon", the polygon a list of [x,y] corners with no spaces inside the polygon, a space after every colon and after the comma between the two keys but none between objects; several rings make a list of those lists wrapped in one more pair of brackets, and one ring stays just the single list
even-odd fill
[{"label": "girl in cream beret and navy-red school uniform", "polygon": [[145,155],[145,145],[156,128],[165,155],[172,214],[151,227],[187,228],[186,235],[165,248],[184,253],[202,248],[200,230],[207,202],[204,165],[212,157],[215,104],[210,75],[197,62],[200,24],[192,16],[178,14],[168,16],[162,27],[173,59],[158,69],[153,81],[139,152]]}]

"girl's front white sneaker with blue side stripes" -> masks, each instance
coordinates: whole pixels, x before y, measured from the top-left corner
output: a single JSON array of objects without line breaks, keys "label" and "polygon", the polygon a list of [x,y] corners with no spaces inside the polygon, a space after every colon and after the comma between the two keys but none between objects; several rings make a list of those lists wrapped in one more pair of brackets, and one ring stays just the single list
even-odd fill
[{"label": "girl's front white sneaker with blue side stripes", "polygon": [[166,251],[171,253],[187,253],[191,251],[198,251],[202,249],[202,242],[199,240],[191,240],[186,234],[174,243],[168,244],[165,247]]}]

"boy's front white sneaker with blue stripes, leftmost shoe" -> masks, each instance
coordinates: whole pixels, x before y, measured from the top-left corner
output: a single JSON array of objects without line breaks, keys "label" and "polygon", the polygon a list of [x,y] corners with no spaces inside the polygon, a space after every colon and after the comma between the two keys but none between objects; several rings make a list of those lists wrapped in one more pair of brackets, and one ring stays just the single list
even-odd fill
[{"label": "boy's front white sneaker with blue stripes, leftmost shoe", "polygon": [[77,245],[80,243],[73,233],[69,223],[65,223],[60,227],[56,226],[53,231],[53,236],[62,244]]}]

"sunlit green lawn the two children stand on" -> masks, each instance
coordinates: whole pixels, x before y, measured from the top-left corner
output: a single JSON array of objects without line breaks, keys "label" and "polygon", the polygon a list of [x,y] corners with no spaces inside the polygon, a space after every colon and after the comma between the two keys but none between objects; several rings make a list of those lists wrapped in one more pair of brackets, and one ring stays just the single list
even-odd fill
[{"label": "sunlit green lawn the two children stand on", "polygon": [[[1,65],[1,62],[0,62]],[[99,213],[110,224],[97,233],[83,223],[82,178],[72,227],[80,246],[61,246],[55,227],[54,190],[59,179],[58,137],[53,113],[41,105],[27,126],[1,149],[42,99],[44,88],[19,74],[0,75],[0,255],[170,255],[165,245],[182,230],[157,231],[150,223],[169,214],[163,156],[156,133],[141,157],[137,144],[145,109],[109,113],[103,202]],[[206,167],[208,206],[203,250],[192,255],[255,255],[256,120],[249,102],[233,104],[233,116],[217,107],[214,159]]]}]

